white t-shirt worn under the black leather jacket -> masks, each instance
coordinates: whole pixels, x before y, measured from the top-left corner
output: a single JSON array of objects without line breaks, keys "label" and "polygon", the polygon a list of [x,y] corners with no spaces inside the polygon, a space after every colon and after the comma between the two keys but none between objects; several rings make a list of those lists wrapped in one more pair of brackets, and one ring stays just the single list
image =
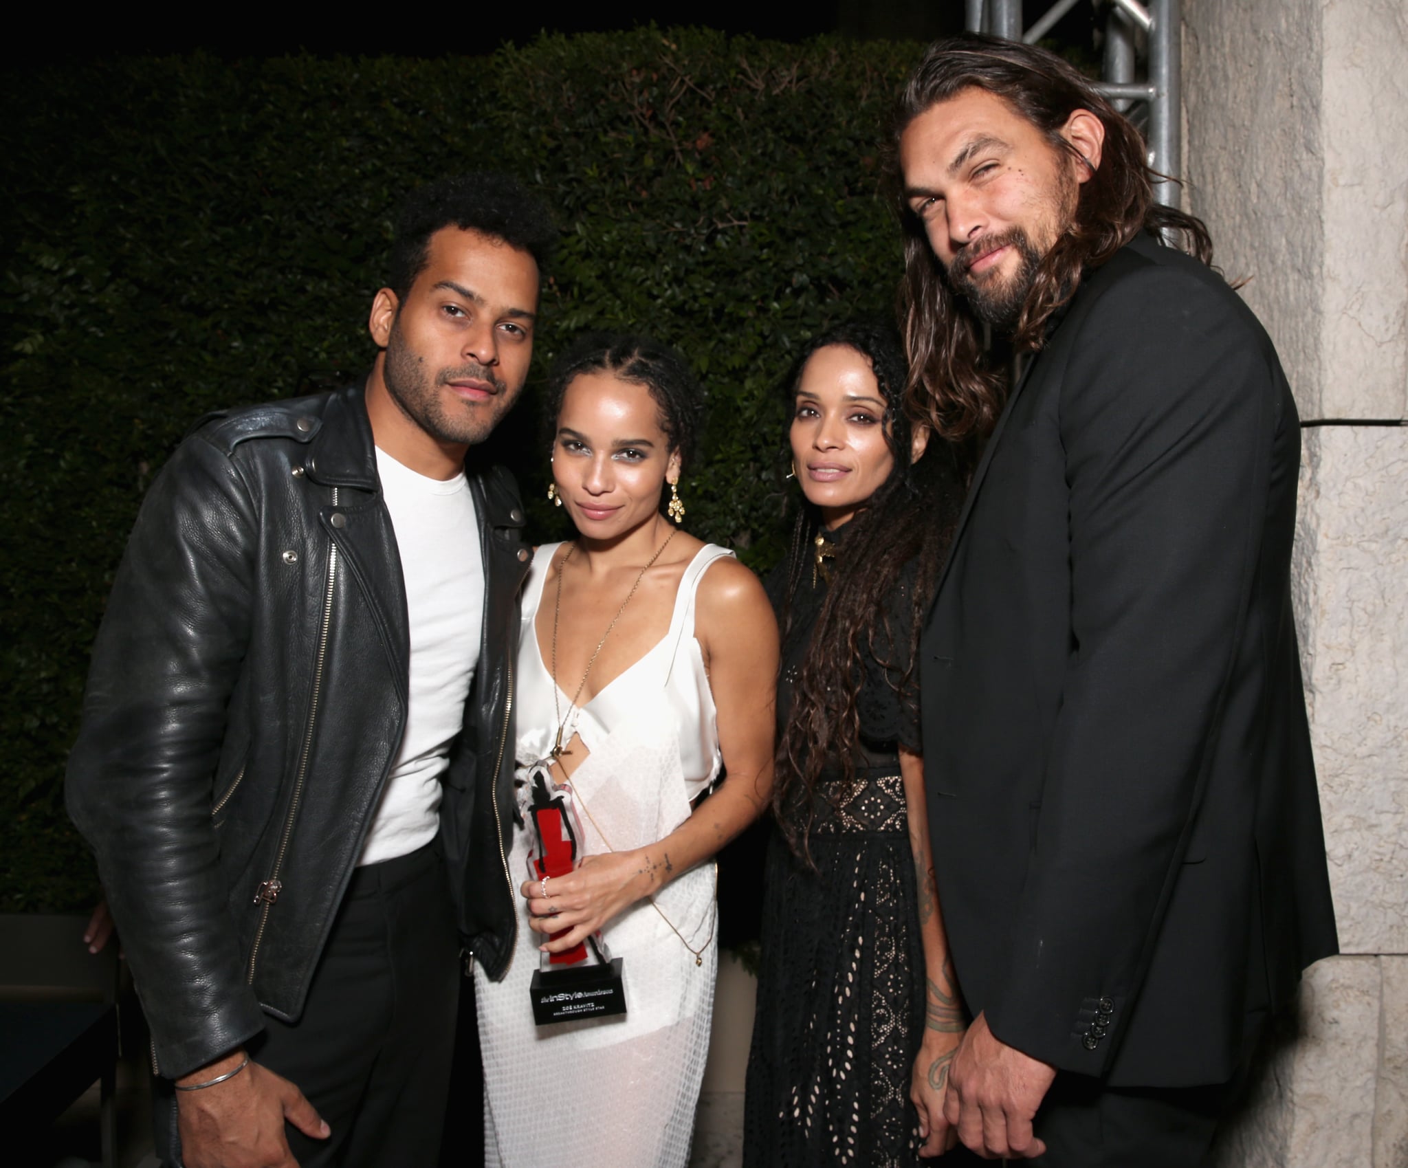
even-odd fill
[{"label": "white t-shirt worn under the black leather jacket", "polygon": [[441,775],[465,721],[484,622],[479,521],[463,473],[427,478],[376,452],[411,628],[410,709],[359,864],[415,851],[439,827]]}]

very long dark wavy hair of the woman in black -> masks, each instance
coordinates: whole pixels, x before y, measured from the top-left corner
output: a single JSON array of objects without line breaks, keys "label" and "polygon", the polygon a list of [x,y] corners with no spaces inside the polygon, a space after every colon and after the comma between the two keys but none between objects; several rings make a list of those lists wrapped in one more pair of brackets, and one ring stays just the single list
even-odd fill
[{"label": "very long dark wavy hair of the woman in black", "polygon": [[[924,456],[910,460],[912,424],[904,411],[908,369],[893,326],[855,321],[812,341],[786,383],[788,414],[796,410],[807,362],[831,345],[845,345],[870,362],[886,401],[883,426],[894,469],[850,521],[841,554],[829,561],[831,583],[779,736],[773,811],[793,851],[803,858],[810,858],[807,837],[824,771],[835,774],[839,767],[845,778],[855,775],[860,749],[856,702],[866,657],[888,668],[903,661],[897,690],[918,667],[919,633],[962,502],[955,452],[948,442],[932,436]],[[797,592],[811,587],[812,540],[819,529],[821,512],[803,498],[777,597],[784,646],[793,633]],[[901,573],[904,590],[898,587]],[[897,611],[900,607],[903,611]],[[907,652],[894,660],[901,630]]]}]

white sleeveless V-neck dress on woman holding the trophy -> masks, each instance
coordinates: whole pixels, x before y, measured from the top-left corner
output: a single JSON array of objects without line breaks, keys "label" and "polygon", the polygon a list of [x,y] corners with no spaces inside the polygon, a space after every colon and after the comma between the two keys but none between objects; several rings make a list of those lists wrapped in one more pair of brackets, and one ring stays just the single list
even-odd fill
[{"label": "white sleeveless V-neck dress on woman holding the trophy", "polygon": [[[553,681],[534,619],[559,546],[538,549],[524,585],[514,737],[520,796],[527,767],[548,754],[558,729]],[[576,718],[590,751],[572,774],[590,811],[590,818],[580,816],[583,854],[625,851],[667,836],[718,775],[718,729],[694,639],[694,597],[704,570],[731,554],[715,545],[700,549],[680,580],[669,632]],[[560,690],[558,708],[563,716],[570,709],[570,695]],[[515,889],[531,878],[522,826],[514,830],[508,871]],[[660,912],[641,901],[610,922],[603,937],[611,956],[624,958],[625,1016],[551,1026],[532,1020],[528,982],[538,968],[541,934],[528,927],[528,906],[518,898],[518,936],[504,979],[474,970],[487,1165],[683,1168],[714,1010],[714,865],[701,864],[656,895]],[[693,948],[704,946],[703,964],[660,913]]]}]

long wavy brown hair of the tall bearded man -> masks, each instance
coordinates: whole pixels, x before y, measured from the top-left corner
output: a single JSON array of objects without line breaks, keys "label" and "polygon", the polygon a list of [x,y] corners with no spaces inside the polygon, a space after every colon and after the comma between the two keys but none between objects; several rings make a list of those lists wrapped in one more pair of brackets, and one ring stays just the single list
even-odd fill
[{"label": "long wavy brown hair of the tall bearded man", "polygon": [[983,326],[949,287],[924,224],[904,198],[900,135],[919,114],[966,89],[1001,97],[1035,125],[1053,149],[1087,165],[1062,137],[1076,110],[1105,127],[1100,167],[1080,187],[1076,214],[1036,269],[1012,334],[1017,352],[1041,349],[1052,312],[1140,231],[1166,232],[1207,265],[1212,239],[1193,215],[1155,201],[1145,142],[1093,83],[1055,53],[1017,41],[964,34],[935,41],[895,103],[886,151],[886,177],[904,231],[904,279],[898,312],[910,355],[910,410],[952,442],[973,450],[991,432],[1007,395],[1007,372],[983,348]]}]

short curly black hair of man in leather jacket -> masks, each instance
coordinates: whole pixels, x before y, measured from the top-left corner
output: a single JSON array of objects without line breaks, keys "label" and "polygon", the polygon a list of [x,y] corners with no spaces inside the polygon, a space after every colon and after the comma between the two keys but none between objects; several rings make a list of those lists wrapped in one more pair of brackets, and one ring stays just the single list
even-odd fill
[{"label": "short curly black hair of man in leather jacket", "polygon": [[477,231],[528,252],[541,276],[558,228],[542,200],[508,174],[451,174],[411,191],[396,220],[387,287],[404,301],[429,263],[431,236],[445,227]]}]

